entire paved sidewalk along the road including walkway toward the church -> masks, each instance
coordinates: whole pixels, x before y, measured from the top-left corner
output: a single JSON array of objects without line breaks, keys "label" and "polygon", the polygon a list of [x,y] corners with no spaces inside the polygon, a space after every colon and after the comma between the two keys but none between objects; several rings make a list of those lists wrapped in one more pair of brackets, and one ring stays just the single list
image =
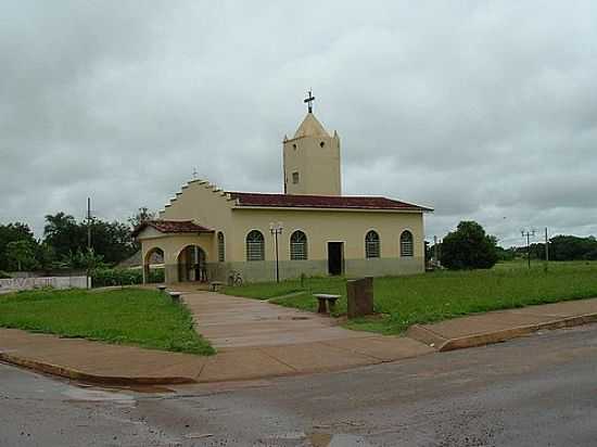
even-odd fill
[{"label": "entire paved sidewalk along the road including walkway toward the church", "polygon": [[218,354],[200,357],[0,329],[0,360],[113,385],[221,382],[338,371],[597,321],[597,298],[415,325],[404,337],[348,331],[333,319],[215,293],[185,295]]}]

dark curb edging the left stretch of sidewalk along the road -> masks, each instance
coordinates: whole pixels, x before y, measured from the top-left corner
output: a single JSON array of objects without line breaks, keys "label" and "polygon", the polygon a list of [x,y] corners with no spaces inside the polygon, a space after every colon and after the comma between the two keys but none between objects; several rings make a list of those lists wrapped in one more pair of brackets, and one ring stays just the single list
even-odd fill
[{"label": "dark curb edging the left stretch of sidewalk along the road", "polygon": [[65,379],[76,380],[79,382],[92,383],[96,385],[113,385],[113,386],[137,386],[137,385],[179,385],[188,383],[196,383],[194,379],[181,376],[162,376],[162,378],[143,378],[143,376],[118,376],[118,375],[100,375],[90,374],[73,368],[65,368],[58,365],[52,365],[45,361],[33,360],[18,355],[0,352],[0,361],[30,369],[36,372],[58,375]]}]

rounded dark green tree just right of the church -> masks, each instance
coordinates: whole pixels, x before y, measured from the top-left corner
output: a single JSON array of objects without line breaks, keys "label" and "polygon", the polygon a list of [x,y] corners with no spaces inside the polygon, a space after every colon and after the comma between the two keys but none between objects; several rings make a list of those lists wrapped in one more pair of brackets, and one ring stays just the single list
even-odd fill
[{"label": "rounded dark green tree just right of the church", "polygon": [[492,268],[495,263],[497,240],[475,221],[461,221],[442,241],[442,264],[449,269]]}]

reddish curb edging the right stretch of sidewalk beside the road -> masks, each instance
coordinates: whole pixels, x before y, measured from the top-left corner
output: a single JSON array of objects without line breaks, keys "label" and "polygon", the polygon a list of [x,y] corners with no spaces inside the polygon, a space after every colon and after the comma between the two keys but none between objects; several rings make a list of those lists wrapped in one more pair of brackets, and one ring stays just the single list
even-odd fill
[{"label": "reddish curb edging the right stretch of sidewalk beside the road", "polygon": [[494,343],[506,342],[508,340],[518,339],[524,335],[529,335],[533,332],[541,330],[552,330],[562,328],[572,328],[575,325],[583,325],[597,322],[596,314],[585,314],[574,317],[566,317],[557,320],[550,320],[537,324],[521,325],[516,328],[504,329],[494,332],[484,332],[474,335],[467,335],[458,339],[445,339],[442,335],[433,332],[429,328],[420,324],[414,324],[407,331],[407,336],[415,339],[419,342],[425,343],[441,352],[466,349],[469,347],[484,346]]}]

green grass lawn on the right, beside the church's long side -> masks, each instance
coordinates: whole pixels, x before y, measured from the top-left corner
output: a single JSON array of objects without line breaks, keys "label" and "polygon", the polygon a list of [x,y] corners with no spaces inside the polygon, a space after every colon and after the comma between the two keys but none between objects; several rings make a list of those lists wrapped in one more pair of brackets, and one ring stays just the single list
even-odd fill
[{"label": "green grass lawn on the right, beside the church's long side", "polygon": [[[296,295],[279,297],[293,292]],[[224,293],[272,298],[282,306],[316,311],[313,293],[343,295],[338,312],[346,311],[344,278],[309,278],[226,288]],[[550,263],[545,272],[535,263],[498,264],[491,270],[436,271],[374,280],[374,318],[350,321],[351,329],[397,334],[415,323],[428,323],[468,314],[597,297],[597,263]]]}]

